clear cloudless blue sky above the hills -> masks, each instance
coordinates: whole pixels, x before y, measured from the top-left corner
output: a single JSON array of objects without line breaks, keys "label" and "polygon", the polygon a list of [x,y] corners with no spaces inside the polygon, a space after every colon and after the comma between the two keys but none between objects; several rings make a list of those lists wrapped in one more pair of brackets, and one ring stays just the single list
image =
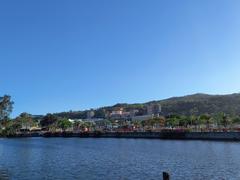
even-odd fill
[{"label": "clear cloudless blue sky above the hills", "polygon": [[2,0],[0,95],[45,114],[240,89],[238,0]]}]

